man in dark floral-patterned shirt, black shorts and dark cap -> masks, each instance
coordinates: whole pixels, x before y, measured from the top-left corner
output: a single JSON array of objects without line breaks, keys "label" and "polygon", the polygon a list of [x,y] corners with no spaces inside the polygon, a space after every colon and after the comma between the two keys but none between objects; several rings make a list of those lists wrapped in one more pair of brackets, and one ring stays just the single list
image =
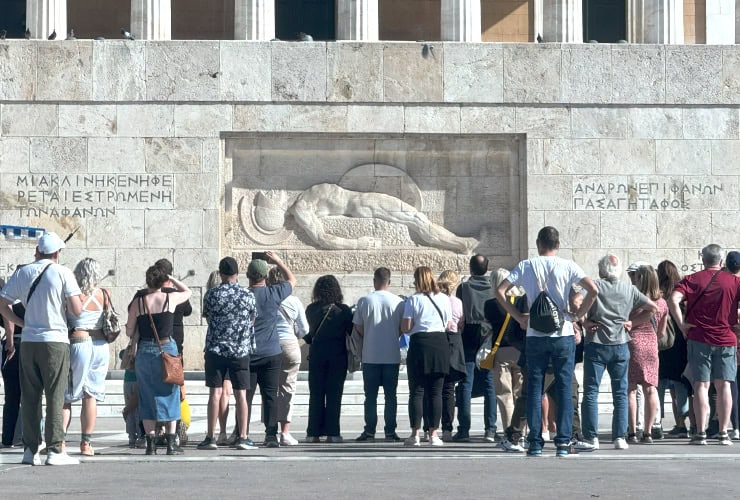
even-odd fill
[{"label": "man in dark floral-patterned shirt, black shorts and dark cap", "polygon": [[203,316],[208,320],[205,362],[208,397],[208,431],[198,445],[199,450],[216,450],[213,435],[216,432],[218,406],[226,374],[229,374],[236,398],[239,438],[236,448],[255,448],[247,438],[249,408],[249,355],[254,351],[254,322],[257,305],[254,294],[237,281],[239,266],[232,257],[224,257],[218,265],[221,284],[208,290],[203,297]]}]

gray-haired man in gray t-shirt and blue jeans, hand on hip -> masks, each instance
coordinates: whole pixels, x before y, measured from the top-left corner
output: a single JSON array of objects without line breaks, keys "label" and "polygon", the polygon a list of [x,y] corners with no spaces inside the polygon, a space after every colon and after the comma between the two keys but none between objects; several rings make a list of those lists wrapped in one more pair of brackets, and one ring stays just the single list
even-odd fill
[{"label": "gray-haired man in gray t-shirt and blue jeans, hand on hip", "polygon": [[598,399],[601,377],[606,370],[612,382],[612,440],[619,450],[627,449],[627,372],[630,352],[627,344],[631,337],[630,314],[643,308],[633,318],[644,322],[658,307],[633,285],[620,281],[622,266],[615,255],[599,260],[599,278],[595,281],[599,294],[588,311],[585,322],[585,347],[583,351],[583,401],[581,418],[584,440],[578,444],[581,451],[599,448]]}]

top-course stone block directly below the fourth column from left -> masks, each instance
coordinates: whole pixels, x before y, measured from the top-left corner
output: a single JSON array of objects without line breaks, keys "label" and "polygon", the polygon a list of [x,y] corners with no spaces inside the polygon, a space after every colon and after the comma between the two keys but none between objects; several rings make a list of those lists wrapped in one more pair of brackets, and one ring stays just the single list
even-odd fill
[{"label": "top-course stone block directly below the fourth column from left", "polygon": [[381,44],[327,44],[326,67],[328,101],[383,102]]}]

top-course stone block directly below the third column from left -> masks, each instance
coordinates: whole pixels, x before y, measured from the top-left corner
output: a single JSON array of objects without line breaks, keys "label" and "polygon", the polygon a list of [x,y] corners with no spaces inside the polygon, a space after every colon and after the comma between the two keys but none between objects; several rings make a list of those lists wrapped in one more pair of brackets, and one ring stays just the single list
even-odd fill
[{"label": "top-course stone block directly below the third column from left", "polygon": [[222,40],[219,95],[224,101],[269,101],[271,49],[267,42]]}]

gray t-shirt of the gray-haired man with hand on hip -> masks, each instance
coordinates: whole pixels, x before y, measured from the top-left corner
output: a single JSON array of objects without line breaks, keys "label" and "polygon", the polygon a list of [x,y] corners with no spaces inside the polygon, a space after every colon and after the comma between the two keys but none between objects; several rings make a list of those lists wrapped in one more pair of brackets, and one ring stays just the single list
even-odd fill
[{"label": "gray t-shirt of the gray-haired man with hand on hip", "polygon": [[598,279],[594,284],[599,295],[588,311],[588,319],[596,322],[597,327],[596,331],[586,332],[586,344],[626,344],[631,336],[624,323],[633,310],[647,303],[647,297],[631,283],[618,279]]}]

